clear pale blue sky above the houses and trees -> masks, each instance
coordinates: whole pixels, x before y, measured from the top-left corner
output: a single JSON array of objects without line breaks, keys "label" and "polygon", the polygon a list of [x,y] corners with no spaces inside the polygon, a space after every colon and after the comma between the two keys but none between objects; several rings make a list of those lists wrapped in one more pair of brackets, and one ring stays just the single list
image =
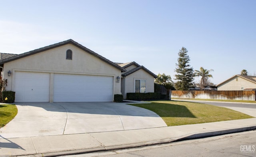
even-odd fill
[{"label": "clear pale blue sky above the houses and trees", "polygon": [[256,0],[0,0],[0,52],[68,39],[172,79],[185,47],[218,84],[243,69],[256,75]]}]

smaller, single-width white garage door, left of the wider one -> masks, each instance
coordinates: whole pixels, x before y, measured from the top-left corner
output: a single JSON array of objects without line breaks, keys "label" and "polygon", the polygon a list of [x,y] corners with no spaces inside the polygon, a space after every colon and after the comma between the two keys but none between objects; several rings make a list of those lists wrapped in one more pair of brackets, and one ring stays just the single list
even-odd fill
[{"label": "smaller, single-width white garage door, left of the wider one", "polygon": [[49,102],[50,74],[15,72],[16,102]]}]

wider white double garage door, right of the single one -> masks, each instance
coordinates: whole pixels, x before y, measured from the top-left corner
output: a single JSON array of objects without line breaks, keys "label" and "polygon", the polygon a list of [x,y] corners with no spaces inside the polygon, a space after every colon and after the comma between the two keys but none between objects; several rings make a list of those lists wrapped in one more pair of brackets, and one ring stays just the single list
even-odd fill
[{"label": "wider white double garage door, right of the single one", "polygon": [[54,74],[54,102],[110,102],[113,77]]}]

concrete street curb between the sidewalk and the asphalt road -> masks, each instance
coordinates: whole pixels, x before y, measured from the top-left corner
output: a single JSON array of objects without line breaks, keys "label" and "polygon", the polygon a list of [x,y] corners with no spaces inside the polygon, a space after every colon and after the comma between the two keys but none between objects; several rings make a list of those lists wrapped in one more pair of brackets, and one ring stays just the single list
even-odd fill
[{"label": "concrete street curb between the sidewalk and the asphalt road", "polygon": [[16,157],[56,157],[56,156],[64,156],[64,155],[77,155],[83,153],[92,153],[97,151],[112,151],[117,149],[127,149],[127,148],[135,148],[135,147],[145,147],[150,145],[159,145],[164,143],[172,143],[178,141],[185,141],[190,139],[200,139],[205,137],[213,137],[218,135],[226,135],[230,133],[239,133],[244,131],[252,131],[256,130],[256,125],[247,126],[247,127],[239,127],[233,129],[225,129],[225,130],[218,130],[218,131],[209,131],[209,132],[202,132],[202,133],[192,133],[188,135],[184,135],[177,138],[172,139],[161,139],[156,141],[147,141],[143,143],[132,143],[132,144],[125,144],[125,145],[116,145],[116,146],[108,146],[108,147],[97,147],[97,148],[89,148],[89,149],[78,149],[72,151],[60,151],[60,152],[52,152],[52,153],[40,153],[34,155],[22,155]]}]

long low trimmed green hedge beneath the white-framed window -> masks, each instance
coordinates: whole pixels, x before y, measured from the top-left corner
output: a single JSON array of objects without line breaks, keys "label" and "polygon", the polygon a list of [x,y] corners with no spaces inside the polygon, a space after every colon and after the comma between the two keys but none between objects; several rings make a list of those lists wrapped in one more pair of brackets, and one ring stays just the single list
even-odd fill
[{"label": "long low trimmed green hedge beneath the white-framed window", "polygon": [[168,99],[167,95],[160,93],[127,93],[128,100],[160,100]]}]

